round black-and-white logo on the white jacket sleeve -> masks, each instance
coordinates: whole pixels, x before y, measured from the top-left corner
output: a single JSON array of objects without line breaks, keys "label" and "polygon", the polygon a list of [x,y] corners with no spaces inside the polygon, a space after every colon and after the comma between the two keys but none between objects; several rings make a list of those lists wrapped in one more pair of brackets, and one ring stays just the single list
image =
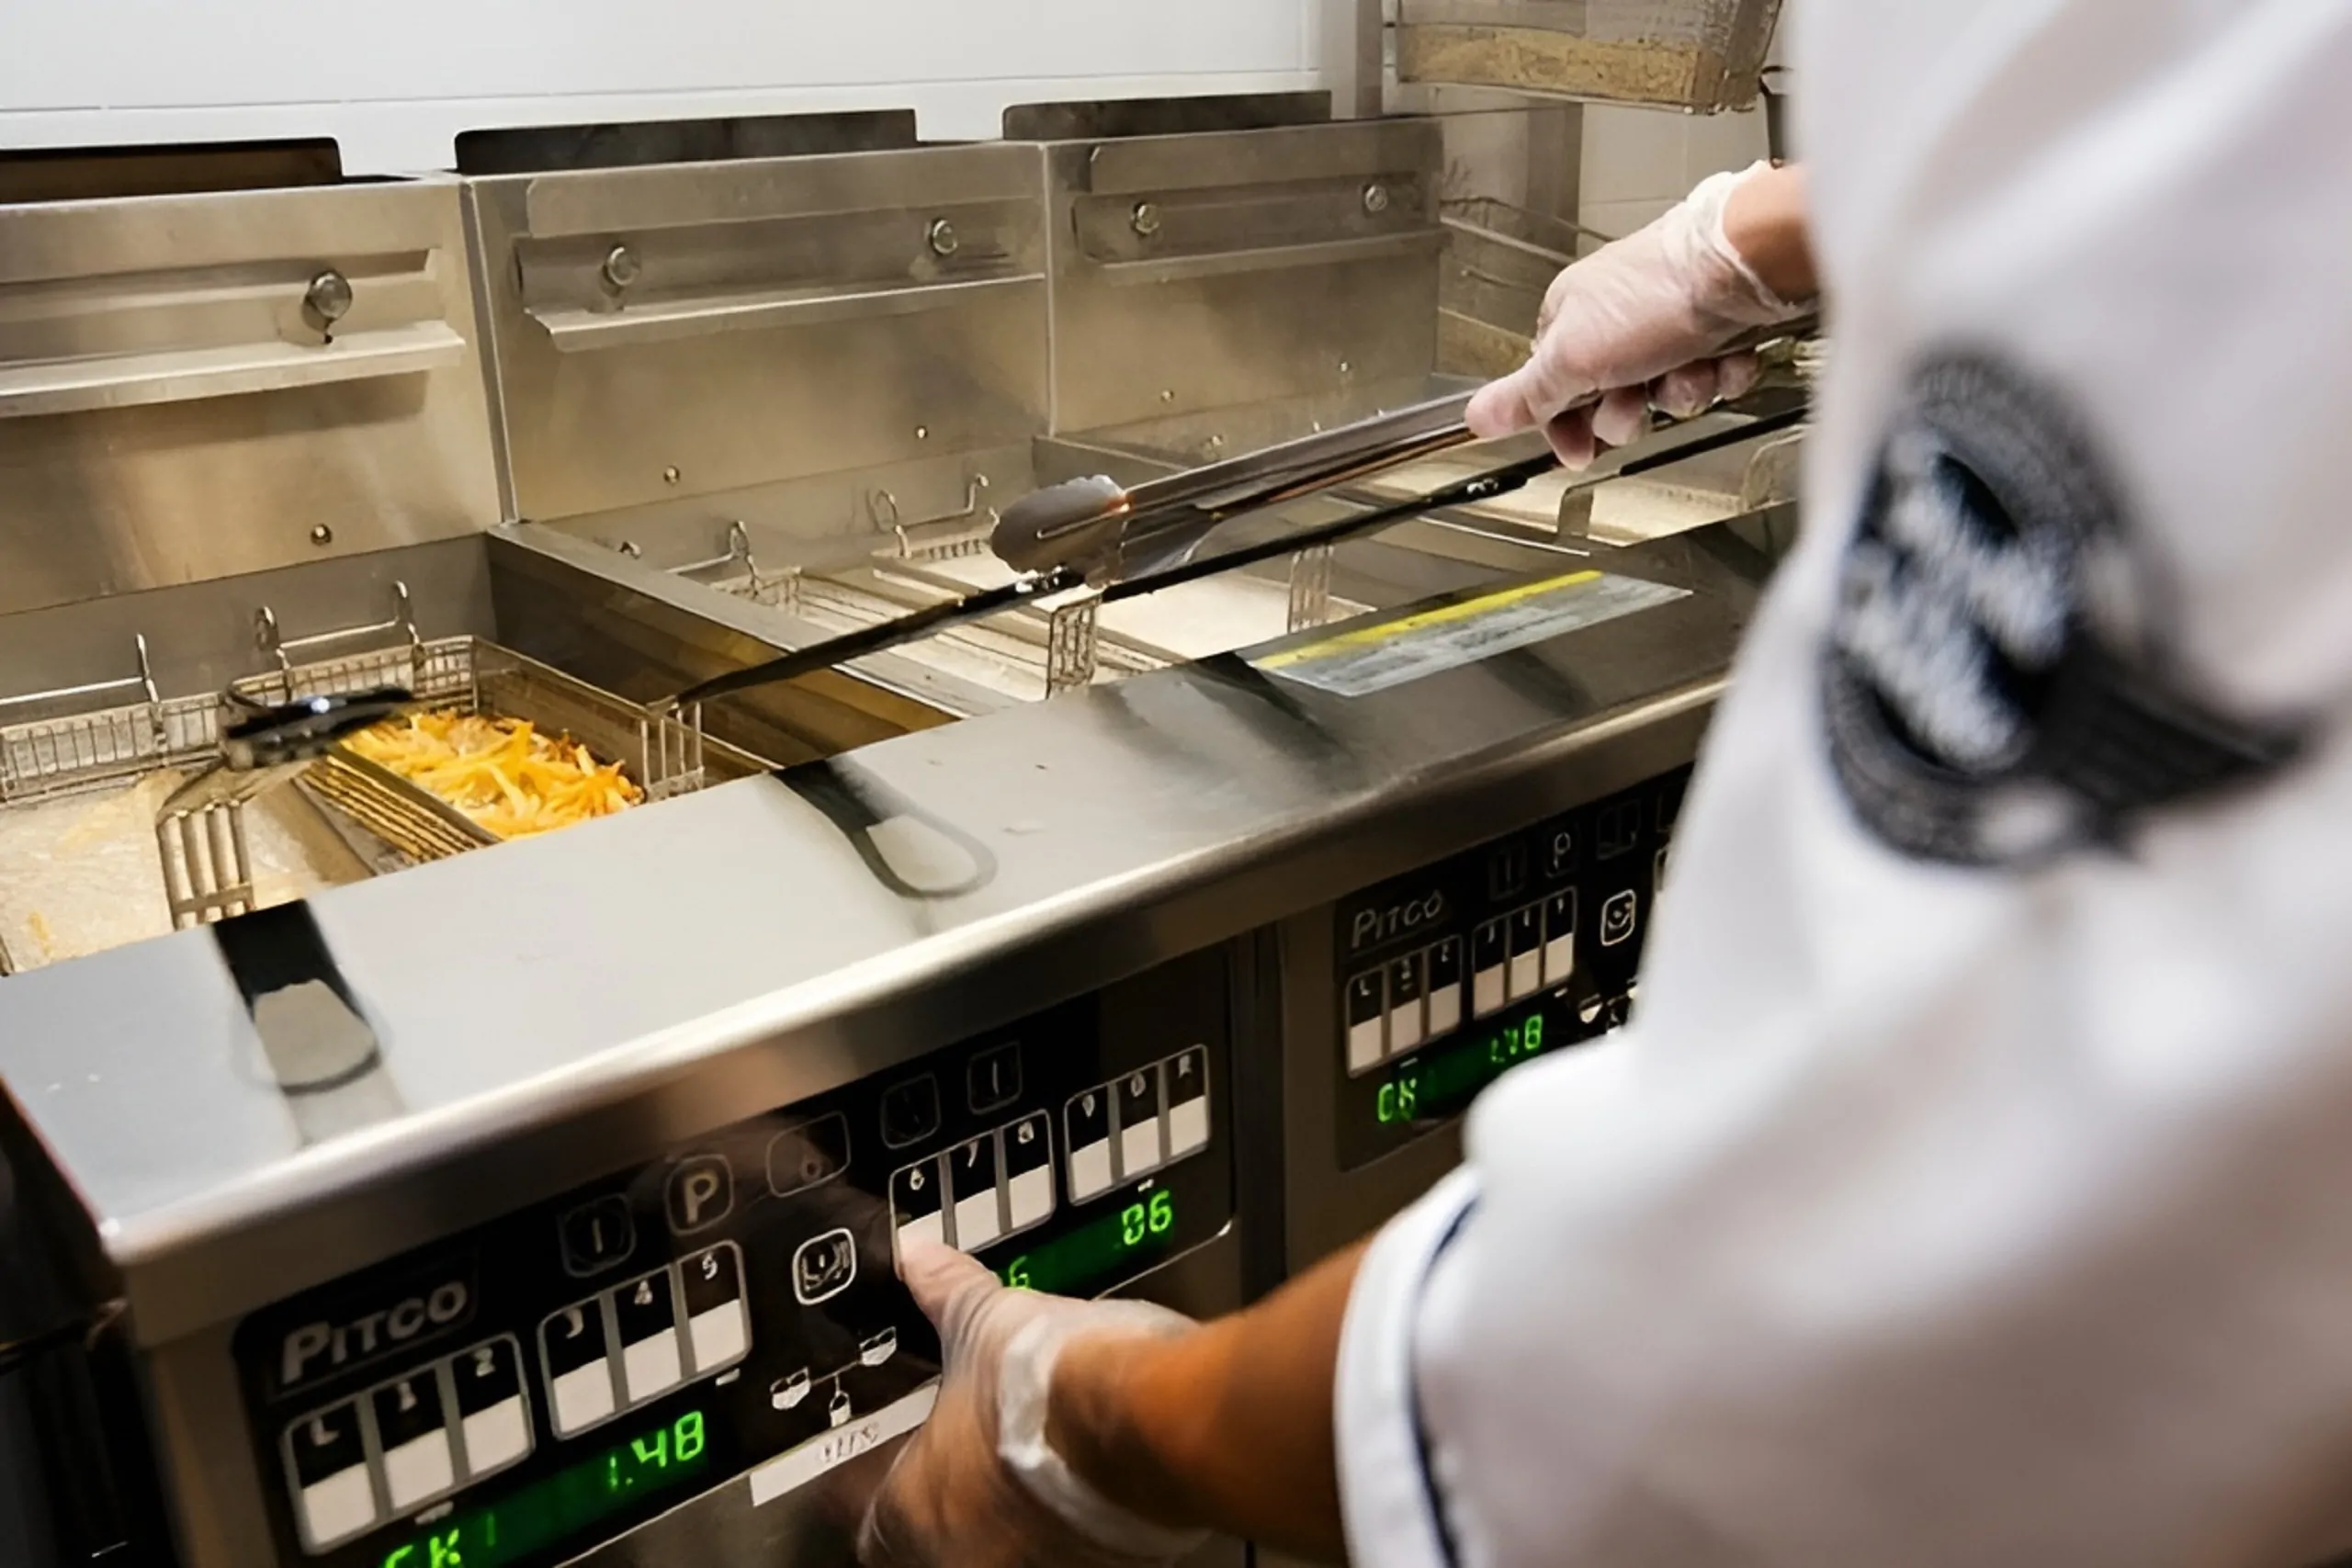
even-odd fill
[{"label": "round black-and-white logo on the white jacket sleeve", "polygon": [[2114,842],[2284,766],[2298,724],[2199,701],[2067,404],[1983,355],[1905,386],[1823,656],[1830,762],[1891,846],[1959,865]]}]

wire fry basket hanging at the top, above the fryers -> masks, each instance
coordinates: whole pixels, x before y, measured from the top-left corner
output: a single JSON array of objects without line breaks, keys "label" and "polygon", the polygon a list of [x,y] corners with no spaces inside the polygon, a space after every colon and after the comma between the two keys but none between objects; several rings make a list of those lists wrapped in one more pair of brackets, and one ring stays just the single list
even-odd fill
[{"label": "wire fry basket hanging at the top, above the fryers", "polygon": [[1780,0],[1399,0],[1397,80],[1748,108],[1778,21]]}]

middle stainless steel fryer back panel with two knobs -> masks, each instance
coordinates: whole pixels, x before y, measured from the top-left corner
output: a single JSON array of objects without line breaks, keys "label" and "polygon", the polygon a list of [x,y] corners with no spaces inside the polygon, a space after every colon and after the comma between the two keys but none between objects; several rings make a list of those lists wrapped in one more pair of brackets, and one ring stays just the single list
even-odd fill
[{"label": "middle stainless steel fryer back panel with two knobs", "polygon": [[508,517],[722,505],[1044,423],[1035,148],[510,174],[468,202]]}]

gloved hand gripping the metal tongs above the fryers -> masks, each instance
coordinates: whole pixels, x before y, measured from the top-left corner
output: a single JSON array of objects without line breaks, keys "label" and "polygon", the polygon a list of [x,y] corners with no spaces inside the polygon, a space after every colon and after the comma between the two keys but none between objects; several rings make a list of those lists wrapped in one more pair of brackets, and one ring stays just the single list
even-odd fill
[{"label": "gloved hand gripping the metal tongs above the fryers", "polygon": [[[1588,468],[1602,447],[1639,437],[1651,404],[1689,418],[1752,388],[1755,355],[1717,350],[1804,315],[1724,235],[1731,193],[1764,167],[1703,181],[1649,228],[1564,268],[1543,294],[1534,355],[1470,400],[1470,430],[1494,440],[1543,428],[1562,463]],[[1595,393],[1606,397],[1571,409]]]}]

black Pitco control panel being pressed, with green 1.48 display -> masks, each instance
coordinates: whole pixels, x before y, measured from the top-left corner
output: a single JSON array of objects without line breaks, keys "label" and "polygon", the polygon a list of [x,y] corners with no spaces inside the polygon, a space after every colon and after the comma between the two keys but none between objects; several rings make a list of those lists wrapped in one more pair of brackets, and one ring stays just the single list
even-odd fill
[{"label": "black Pitco control panel being pressed, with green 1.48 display", "polygon": [[543,1568],[913,1429],[903,1239],[1094,1295],[1225,1229],[1225,1020],[1197,954],[249,1316],[280,1559]]}]

